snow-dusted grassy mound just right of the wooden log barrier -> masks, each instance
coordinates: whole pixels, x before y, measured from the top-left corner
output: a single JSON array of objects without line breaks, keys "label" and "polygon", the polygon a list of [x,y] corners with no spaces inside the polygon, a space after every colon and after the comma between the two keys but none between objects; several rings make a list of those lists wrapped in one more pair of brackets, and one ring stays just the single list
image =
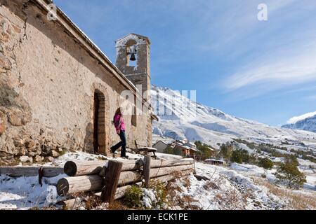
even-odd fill
[{"label": "snow-dusted grassy mound just right of the wooden log barrier", "polygon": [[198,181],[189,177],[190,187],[183,187],[180,180],[176,182],[182,190],[181,195],[190,196],[195,205],[201,209],[282,209],[284,204],[268,190],[256,186],[254,181],[237,171],[196,163],[197,175],[209,180]]}]

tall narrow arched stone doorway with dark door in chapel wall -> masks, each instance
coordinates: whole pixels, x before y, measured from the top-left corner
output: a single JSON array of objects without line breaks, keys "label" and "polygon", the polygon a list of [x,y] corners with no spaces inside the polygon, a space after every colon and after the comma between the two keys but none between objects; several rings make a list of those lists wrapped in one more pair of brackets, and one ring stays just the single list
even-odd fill
[{"label": "tall narrow arched stone doorway with dark door in chapel wall", "polygon": [[110,147],[110,108],[105,87],[95,83],[93,87],[93,153],[107,155]]}]

